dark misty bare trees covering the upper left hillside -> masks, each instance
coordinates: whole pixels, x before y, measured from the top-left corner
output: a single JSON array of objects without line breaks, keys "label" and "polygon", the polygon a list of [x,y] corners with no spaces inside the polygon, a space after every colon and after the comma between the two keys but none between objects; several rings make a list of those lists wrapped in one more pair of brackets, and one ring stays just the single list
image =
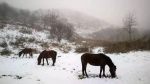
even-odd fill
[{"label": "dark misty bare trees covering the upper left hillside", "polygon": [[0,28],[5,24],[26,26],[42,31],[50,31],[51,38],[61,41],[62,38],[69,40],[73,36],[74,27],[66,18],[60,16],[57,10],[26,10],[18,9],[9,4],[0,3]]}]

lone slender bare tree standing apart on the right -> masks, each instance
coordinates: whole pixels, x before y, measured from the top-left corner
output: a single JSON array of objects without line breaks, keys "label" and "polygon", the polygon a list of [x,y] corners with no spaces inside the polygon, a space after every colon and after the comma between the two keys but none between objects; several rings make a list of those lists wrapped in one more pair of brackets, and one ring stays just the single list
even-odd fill
[{"label": "lone slender bare tree standing apart on the right", "polygon": [[137,25],[135,14],[133,12],[128,13],[123,19],[123,23],[124,23],[124,28],[127,30],[129,34],[129,39],[131,41],[132,28],[133,26]]}]

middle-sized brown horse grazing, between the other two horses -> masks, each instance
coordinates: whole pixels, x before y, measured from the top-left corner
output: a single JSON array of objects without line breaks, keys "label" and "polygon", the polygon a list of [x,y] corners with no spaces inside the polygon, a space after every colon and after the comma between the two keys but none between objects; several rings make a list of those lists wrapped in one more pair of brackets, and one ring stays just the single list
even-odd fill
[{"label": "middle-sized brown horse grazing, between the other two horses", "polygon": [[43,58],[43,64],[42,64],[42,65],[44,65],[44,58],[45,58],[46,61],[47,61],[47,65],[49,65],[49,63],[48,63],[48,58],[52,58],[52,60],[53,60],[52,66],[55,66],[56,56],[57,56],[57,52],[56,52],[56,51],[54,51],[54,50],[49,50],[49,51],[44,50],[44,51],[42,51],[42,52],[40,53],[40,55],[39,55],[39,57],[38,57],[38,59],[37,59],[37,60],[38,60],[38,65],[41,64],[41,59],[42,59],[42,58]]}]

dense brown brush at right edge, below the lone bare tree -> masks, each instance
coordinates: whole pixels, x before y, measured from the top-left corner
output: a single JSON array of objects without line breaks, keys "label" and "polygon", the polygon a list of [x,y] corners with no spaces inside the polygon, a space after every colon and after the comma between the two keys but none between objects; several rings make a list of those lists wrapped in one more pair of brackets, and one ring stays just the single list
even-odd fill
[{"label": "dense brown brush at right edge, below the lone bare tree", "polygon": [[107,42],[103,45],[106,53],[126,53],[129,51],[150,50],[150,38],[133,41]]}]

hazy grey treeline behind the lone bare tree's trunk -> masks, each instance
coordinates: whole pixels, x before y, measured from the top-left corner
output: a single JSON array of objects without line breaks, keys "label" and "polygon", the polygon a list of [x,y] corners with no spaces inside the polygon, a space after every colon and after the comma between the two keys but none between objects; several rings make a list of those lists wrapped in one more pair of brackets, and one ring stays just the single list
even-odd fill
[{"label": "hazy grey treeline behind the lone bare tree's trunk", "polygon": [[[93,39],[106,41],[128,41],[129,34],[125,28],[110,27],[91,34]],[[150,37],[150,29],[139,31],[137,28],[131,30],[131,40]]]}]

